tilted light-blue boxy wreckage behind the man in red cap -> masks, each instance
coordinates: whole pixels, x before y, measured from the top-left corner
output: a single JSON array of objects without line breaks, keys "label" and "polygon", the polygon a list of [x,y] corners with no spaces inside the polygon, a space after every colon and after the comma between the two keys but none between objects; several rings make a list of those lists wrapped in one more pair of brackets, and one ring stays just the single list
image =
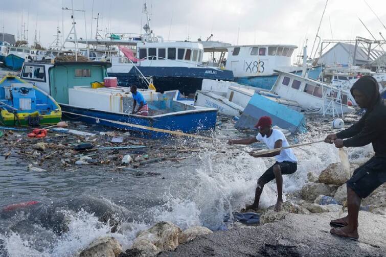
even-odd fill
[{"label": "tilted light-blue boxy wreckage behind the man in red cap", "polygon": [[274,126],[287,129],[292,133],[307,132],[306,118],[302,113],[259,94],[251,98],[235,127],[253,129],[261,116],[270,116]]}]

